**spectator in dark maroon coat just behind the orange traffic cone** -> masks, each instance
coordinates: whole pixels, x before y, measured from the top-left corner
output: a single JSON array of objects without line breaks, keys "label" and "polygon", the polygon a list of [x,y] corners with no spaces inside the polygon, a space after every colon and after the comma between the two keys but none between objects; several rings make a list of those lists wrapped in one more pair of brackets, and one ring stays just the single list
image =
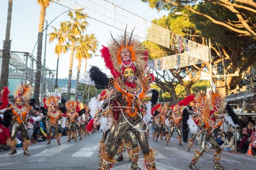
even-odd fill
[{"label": "spectator in dark maroon coat just behind the orange traffic cone", "polygon": [[250,123],[248,123],[247,128],[244,128],[242,130],[243,138],[238,145],[238,147],[242,150],[242,153],[246,153],[246,151],[248,150],[247,142],[248,142],[248,139],[251,137],[252,129],[253,129],[253,124],[250,122]]}]

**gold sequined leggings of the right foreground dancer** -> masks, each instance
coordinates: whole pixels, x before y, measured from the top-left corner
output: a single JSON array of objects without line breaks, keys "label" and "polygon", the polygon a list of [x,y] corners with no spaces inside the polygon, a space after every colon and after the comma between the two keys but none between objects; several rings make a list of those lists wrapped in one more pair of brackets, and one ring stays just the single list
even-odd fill
[{"label": "gold sequined leggings of the right foreground dancer", "polygon": [[204,152],[207,141],[214,147],[214,149],[216,149],[216,151],[221,151],[220,145],[213,138],[213,136],[211,134],[203,133],[201,136],[201,148],[199,150],[200,154]]}]

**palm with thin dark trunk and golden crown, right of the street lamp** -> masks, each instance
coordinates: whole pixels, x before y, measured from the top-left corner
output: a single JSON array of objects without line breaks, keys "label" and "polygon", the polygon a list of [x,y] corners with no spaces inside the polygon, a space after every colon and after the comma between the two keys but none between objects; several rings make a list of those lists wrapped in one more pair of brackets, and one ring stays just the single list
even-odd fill
[{"label": "palm with thin dark trunk and golden crown, right of the street lamp", "polygon": [[54,32],[49,33],[48,35],[50,36],[49,42],[51,43],[54,40],[57,40],[58,43],[55,46],[55,54],[57,54],[58,59],[57,59],[57,71],[56,71],[56,79],[55,79],[55,85],[54,89],[58,88],[58,68],[59,68],[59,57],[61,53],[66,53],[69,47],[69,43],[66,42],[66,33],[69,30],[69,27],[66,22],[61,22],[61,28],[56,29],[54,26],[51,26],[54,29]]}]

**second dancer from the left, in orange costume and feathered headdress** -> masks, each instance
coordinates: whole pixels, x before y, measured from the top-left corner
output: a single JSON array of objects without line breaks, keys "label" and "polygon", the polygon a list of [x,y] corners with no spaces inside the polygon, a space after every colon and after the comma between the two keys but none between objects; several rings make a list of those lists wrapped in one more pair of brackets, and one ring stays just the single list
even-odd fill
[{"label": "second dancer from the left, in orange costume and feathered headdress", "polygon": [[61,110],[59,110],[59,100],[58,96],[46,96],[43,99],[44,107],[48,109],[46,116],[46,128],[47,128],[47,145],[51,143],[51,133],[52,129],[55,130],[55,138],[58,145],[61,145],[61,134],[59,133],[59,120],[62,121]]}]

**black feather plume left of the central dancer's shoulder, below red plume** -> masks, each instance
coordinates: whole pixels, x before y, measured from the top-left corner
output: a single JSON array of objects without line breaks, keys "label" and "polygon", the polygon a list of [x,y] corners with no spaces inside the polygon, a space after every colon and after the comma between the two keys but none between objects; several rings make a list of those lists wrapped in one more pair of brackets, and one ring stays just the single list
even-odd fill
[{"label": "black feather plume left of the central dancer's shoulder, below red plume", "polygon": [[98,67],[92,66],[89,70],[90,78],[95,83],[96,89],[108,88],[109,78],[107,74],[103,73]]}]

